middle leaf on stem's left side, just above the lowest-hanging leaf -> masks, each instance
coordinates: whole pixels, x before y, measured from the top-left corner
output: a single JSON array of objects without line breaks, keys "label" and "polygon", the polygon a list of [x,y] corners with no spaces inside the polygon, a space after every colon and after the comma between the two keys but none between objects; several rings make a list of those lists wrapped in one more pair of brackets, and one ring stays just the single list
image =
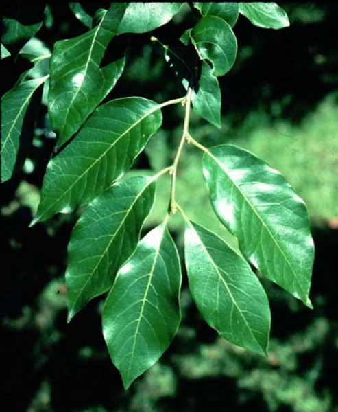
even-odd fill
[{"label": "middle leaf on stem's left side, just above the lowest-hanging leaf", "polygon": [[68,248],[68,320],[112,287],[119,267],[134,252],[154,204],[156,181],[136,176],[97,196],[77,221]]}]

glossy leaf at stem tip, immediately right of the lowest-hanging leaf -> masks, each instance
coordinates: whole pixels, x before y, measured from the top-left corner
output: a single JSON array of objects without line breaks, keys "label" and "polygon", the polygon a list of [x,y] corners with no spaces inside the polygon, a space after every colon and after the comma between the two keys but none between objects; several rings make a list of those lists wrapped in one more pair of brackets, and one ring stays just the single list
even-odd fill
[{"label": "glossy leaf at stem tip, immediately right of the lowest-hanging leaf", "polygon": [[249,264],[215,233],[186,222],[189,289],[202,316],[229,342],[267,354],[269,301]]}]

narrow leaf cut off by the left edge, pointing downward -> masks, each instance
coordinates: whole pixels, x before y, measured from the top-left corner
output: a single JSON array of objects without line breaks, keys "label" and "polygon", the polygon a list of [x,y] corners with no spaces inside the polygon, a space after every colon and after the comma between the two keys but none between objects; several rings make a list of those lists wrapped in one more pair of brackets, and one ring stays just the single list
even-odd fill
[{"label": "narrow leaf cut off by the left edge, pointing downward", "polygon": [[23,82],[1,99],[1,182],[19,172],[34,136],[42,85],[48,76]]}]

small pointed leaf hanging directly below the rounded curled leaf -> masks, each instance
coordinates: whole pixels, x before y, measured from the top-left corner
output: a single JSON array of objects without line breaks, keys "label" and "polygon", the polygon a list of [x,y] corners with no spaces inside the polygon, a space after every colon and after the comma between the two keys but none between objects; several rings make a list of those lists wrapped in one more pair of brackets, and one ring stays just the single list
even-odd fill
[{"label": "small pointed leaf hanging directly below the rounded curled leaf", "polygon": [[193,110],[203,119],[217,127],[221,127],[221,89],[217,78],[206,62],[202,62],[200,81],[197,93],[195,88],[191,96]]}]

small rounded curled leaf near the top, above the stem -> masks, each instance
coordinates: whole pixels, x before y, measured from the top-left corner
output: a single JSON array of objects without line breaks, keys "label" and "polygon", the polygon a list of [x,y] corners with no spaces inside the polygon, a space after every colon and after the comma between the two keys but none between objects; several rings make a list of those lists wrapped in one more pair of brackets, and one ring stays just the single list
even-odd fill
[{"label": "small rounded curled leaf near the top, above the stem", "polygon": [[237,40],[226,21],[215,16],[202,17],[190,37],[201,60],[209,60],[213,65],[213,76],[228,73],[236,59]]}]

